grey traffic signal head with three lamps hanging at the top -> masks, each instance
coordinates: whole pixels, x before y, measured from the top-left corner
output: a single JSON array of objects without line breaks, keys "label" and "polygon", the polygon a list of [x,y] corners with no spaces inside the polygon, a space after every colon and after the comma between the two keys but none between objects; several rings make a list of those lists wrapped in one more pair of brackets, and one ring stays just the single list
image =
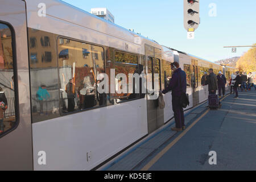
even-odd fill
[{"label": "grey traffic signal head with three lamps hanging at the top", "polygon": [[196,28],[200,23],[199,16],[199,1],[200,0],[183,0],[184,1],[184,28],[188,31],[189,28]]}]

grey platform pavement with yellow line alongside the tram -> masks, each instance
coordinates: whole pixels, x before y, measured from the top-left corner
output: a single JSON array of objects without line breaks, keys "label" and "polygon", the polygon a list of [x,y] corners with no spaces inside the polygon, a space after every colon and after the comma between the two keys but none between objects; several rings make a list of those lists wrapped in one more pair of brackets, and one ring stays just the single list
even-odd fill
[{"label": "grey platform pavement with yellow line alongside the tram", "polygon": [[[207,102],[185,115],[187,129],[171,131],[174,119],[156,133],[101,167],[108,171],[255,170],[256,91],[222,98],[222,107]],[[217,164],[210,165],[209,152]]]}]

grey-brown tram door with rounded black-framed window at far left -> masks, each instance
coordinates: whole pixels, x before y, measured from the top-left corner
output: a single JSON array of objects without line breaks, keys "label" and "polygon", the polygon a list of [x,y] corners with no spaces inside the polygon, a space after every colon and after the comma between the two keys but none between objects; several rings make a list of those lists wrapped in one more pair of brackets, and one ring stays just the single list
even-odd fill
[{"label": "grey-brown tram door with rounded black-framed window at far left", "polygon": [[0,121],[0,171],[32,170],[26,5],[0,3],[0,86],[7,106]]}]

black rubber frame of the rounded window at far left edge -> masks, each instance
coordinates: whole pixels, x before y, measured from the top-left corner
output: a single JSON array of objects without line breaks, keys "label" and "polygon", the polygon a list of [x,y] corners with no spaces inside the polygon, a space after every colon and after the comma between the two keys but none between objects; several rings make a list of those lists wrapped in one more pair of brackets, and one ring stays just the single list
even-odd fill
[{"label": "black rubber frame of the rounded window at far left edge", "polygon": [[0,139],[16,130],[19,126],[19,90],[18,90],[18,68],[17,68],[17,55],[16,55],[16,34],[14,27],[9,23],[0,20],[1,24],[5,24],[11,31],[11,48],[13,53],[13,78],[14,78],[14,101],[15,101],[15,123],[14,126],[7,131],[0,134]]}]

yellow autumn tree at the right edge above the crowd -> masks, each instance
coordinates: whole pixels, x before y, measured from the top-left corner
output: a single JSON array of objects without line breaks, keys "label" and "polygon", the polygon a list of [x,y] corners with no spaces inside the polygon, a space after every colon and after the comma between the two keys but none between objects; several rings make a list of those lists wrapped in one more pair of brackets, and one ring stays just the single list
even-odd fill
[{"label": "yellow autumn tree at the right edge above the crowd", "polygon": [[[256,44],[254,44],[256,46]],[[256,47],[252,47],[249,51],[237,61],[237,69],[242,72],[256,71]]]}]

